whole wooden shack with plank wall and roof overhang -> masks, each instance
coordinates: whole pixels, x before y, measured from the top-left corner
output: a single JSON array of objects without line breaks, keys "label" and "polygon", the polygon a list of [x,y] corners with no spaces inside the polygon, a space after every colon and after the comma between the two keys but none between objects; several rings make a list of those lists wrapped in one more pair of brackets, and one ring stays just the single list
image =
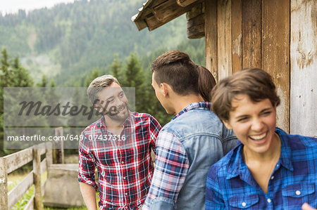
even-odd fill
[{"label": "whole wooden shack with plank wall and roof overhang", "polygon": [[316,0],[148,0],[132,21],[151,31],[186,13],[187,37],[205,37],[206,67],[217,80],[266,70],[281,98],[278,126],[316,137],[316,11]]}]

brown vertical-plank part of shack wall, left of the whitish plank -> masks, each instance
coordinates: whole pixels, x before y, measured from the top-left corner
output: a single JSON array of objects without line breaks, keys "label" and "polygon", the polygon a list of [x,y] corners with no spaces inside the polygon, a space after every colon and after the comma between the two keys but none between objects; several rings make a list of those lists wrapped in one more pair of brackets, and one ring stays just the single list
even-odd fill
[{"label": "brown vertical-plank part of shack wall, left of the whitish plank", "polygon": [[247,67],[269,72],[281,98],[278,126],[289,131],[290,1],[206,0],[206,67],[216,79]]}]

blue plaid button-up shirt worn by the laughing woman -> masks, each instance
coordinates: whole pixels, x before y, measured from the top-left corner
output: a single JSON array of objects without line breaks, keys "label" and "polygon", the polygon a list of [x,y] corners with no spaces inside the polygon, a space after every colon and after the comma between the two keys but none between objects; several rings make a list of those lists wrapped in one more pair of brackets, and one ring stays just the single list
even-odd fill
[{"label": "blue plaid button-up shirt worn by the laughing woman", "polygon": [[302,209],[317,207],[317,138],[288,135],[268,183],[268,194],[254,180],[242,158],[242,143],[211,166],[207,177],[206,209]]}]

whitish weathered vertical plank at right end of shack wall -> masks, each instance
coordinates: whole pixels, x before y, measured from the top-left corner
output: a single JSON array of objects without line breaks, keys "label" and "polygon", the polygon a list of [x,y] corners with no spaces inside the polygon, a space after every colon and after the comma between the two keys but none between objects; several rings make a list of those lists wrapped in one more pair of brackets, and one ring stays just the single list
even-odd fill
[{"label": "whitish weathered vertical plank at right end of shack wall", "polygon": [[290,8],[290,133],[317,137],[317,1],[292,0]]}]

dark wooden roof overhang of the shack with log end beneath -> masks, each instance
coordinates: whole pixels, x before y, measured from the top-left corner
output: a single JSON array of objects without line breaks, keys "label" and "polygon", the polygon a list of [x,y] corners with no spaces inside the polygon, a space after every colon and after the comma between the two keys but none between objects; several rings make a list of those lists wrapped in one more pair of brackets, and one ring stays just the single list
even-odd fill
[{"label": "dark wooden roof overhang of the shack with log end beneath", "polygon": [[148,0],[131,20],[139,30],[147,27],[151,31],[184,13],[187,13],[187,37],[204,37],[203,0]]}]

